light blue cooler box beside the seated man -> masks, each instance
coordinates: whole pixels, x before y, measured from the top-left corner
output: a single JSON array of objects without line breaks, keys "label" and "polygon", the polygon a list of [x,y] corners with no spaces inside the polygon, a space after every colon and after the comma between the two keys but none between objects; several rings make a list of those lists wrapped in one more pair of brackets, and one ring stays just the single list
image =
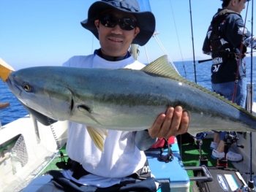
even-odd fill
[{"label": "light blue cooler box beside the seated man", "polygon": [[[172,145],[171,149],[177,150],[176,147],[178,144]],[[159,161],[159,149],[146,150],[145,153],[151,173],[162,183],[162,188],[157,192],[189,192],[189,176],[179,153],[173,153],[173,161],[168,163]],[[162,155],[166,154],[167,150],[162,153]]]}]

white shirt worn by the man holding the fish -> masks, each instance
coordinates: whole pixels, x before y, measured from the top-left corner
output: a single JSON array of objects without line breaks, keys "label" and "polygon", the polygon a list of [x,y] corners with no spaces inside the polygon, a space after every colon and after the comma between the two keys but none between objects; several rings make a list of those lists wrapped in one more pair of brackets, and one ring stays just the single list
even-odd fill
[{"label": "white shirt worn by the man holding the fish", "polygon": [[[121,61],[106,61],[98,55],[74,56],[63,65],[105,69],[142,69],[145,66],[132,56]],[[128,180],[127,176],[141,169],[146,162],[146,155],[135,145],[135,132],[108,130],[102,153],[92,142],[86,126],[73,122],[69,122],[67,155],[91,174],[75,180],[70,170],[64,170],[64,177],[100,188]]]}]

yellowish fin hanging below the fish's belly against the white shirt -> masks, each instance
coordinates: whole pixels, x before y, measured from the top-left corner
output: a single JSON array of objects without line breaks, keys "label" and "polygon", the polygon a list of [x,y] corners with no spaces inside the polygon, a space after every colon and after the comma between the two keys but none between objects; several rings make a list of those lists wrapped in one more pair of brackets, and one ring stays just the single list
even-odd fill
[{"label": "yellowish fin hanging below the fish's belly against the white shirt", "polygon": [[105,136],[108,136],[108,131],[105,128],[94,128],[87,126],[87,131],[91,137],[91,140],[94,142],[96,147],[104,153],[104,142]]}]

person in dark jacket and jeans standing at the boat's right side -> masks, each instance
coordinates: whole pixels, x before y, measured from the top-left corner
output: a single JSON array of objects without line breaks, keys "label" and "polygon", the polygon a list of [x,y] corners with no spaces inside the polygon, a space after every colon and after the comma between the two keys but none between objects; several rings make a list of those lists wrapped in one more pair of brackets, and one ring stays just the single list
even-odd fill
[{"label": "person in dark jacket and jeans standing at the boat's right side", "polygon": [[[244,27],[244,21],[240,15],[247,0],[222,1],[222,9],[218,9],[208,28],[206,39],[203,42],[203,53],[212,57],[211,85],[213,90],[233,101],[236,75],[238,75],[235,103],[245,107],[246,66],[244,57],[246,47],[256,48],[256,38],[251,37],[250,32]],[[211,155],[213,158],[224,157],[225,135],[226,131],[214,131],[214,142],[211,142],[210,146],[213,150]],[[243,156],[229,151],[226,158],[236,162],[241,161]]]}]

